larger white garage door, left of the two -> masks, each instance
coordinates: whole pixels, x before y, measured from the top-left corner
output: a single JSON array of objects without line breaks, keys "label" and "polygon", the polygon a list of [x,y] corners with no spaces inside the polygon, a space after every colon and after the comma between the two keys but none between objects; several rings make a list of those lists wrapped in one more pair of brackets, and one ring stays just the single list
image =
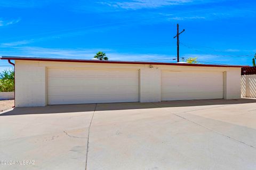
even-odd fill
[{"label": "larger white garage door, left of the two", "polygon": [[48,104],[139,101],[139,71],[47,69]]}]

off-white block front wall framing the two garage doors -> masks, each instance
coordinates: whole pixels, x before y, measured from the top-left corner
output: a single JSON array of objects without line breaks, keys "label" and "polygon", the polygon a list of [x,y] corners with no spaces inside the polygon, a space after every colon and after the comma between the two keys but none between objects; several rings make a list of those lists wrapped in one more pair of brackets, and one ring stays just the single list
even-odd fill
[{"label": "off-white block front wall framing the two garage doors", "polygon": [[16,107],[47,105],[47,68],[86,69],[138,69],[139,101],[161,101],[162,70],[206,71],[223,73],[223,96],[225,99],[241,98],[241,68],[230,67],[188,67],[148,64],[78,63],[50,61],[15,61],[15,105]]}]

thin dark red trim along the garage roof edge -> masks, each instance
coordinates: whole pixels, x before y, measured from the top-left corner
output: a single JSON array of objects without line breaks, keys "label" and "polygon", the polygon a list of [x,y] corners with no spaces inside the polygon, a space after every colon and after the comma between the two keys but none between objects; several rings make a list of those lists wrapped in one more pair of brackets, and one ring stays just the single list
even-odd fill
[{"label": "thin dark red trim along the garage roof edge", "polygon": [[86,62],[86,63],[114,63],[114,64],[154,64],[167,66],[195,66],[195,67],[249,67],[229,66],[214,64],[189,64],[189,63],[166,63],[166,62],[142,62],[142,61],[102,61],[102,60],[81,60],[81,59],[53,59],[53,58],[28,58],[19,56],[2,56],[1,60],[29,60],[29,61],[55,61],[55,62]]}]

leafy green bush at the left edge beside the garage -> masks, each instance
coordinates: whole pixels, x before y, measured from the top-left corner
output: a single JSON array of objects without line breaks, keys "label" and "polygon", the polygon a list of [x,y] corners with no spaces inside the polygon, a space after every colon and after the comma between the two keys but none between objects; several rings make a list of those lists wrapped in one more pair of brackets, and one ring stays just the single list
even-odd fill
[{"label": "leafy green bush at the left edge beside the garage", "polygon": [[14,70],[4,70],[0,73],[0,92],[14,91]]}]

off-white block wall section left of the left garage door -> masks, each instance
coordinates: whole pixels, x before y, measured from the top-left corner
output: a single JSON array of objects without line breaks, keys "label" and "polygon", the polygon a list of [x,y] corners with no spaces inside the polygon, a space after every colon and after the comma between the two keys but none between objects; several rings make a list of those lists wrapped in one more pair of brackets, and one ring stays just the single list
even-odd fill
[{"label": "off-white block wall section left of the left garage door", "polygon": [[15,107],[46,106],[45,66],[15,61]]}]

